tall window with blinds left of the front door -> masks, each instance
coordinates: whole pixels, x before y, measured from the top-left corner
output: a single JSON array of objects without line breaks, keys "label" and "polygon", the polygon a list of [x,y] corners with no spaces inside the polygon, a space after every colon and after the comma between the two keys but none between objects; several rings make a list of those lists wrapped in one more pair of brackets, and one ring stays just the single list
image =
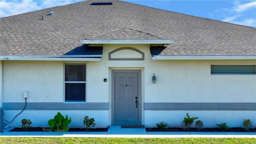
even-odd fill
[{"label": "tall window with blinds left of the front door", "polygon": [[65,102],[85,102],[86,64],[65,64]]}]

